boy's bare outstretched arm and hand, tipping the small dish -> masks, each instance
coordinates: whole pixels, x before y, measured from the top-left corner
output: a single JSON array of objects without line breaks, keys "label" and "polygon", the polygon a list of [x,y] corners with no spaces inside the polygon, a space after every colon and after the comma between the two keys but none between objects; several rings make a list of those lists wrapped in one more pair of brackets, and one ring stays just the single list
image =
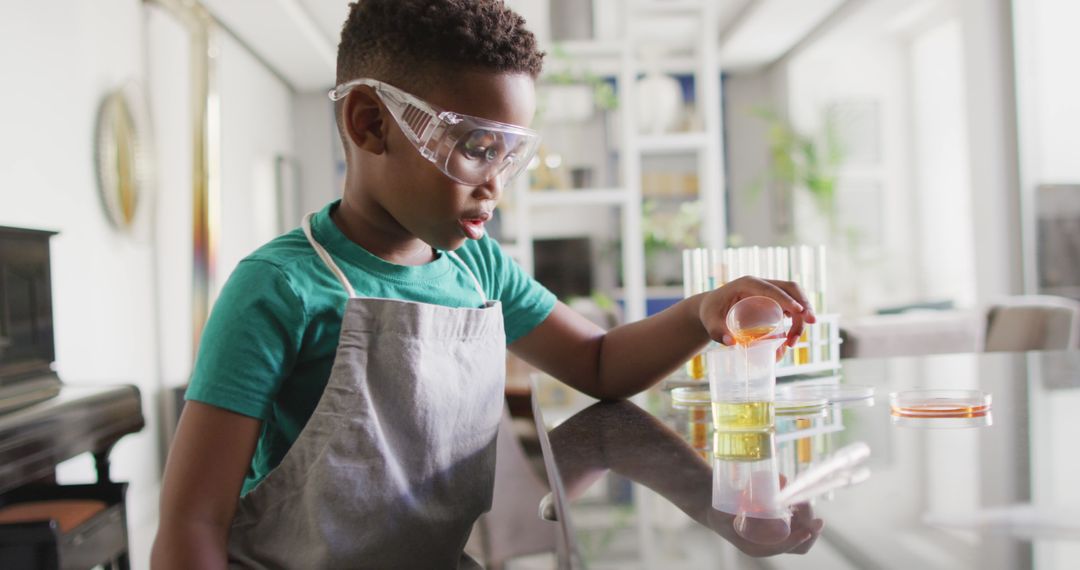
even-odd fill
[{"label": "boy's bare outstretched arm and hand, tipping the small dish", "polygon": [[710,339],[731,344],[725,322],[728,310],[756,295],[774,299],[792,317],[785,345],[795,343],[805,323],[814,322],[813,310],[797,284],[740,277],[607,332],[558,302],[543,323],[510,350],[593,397],[624,398],[675,371]]}]

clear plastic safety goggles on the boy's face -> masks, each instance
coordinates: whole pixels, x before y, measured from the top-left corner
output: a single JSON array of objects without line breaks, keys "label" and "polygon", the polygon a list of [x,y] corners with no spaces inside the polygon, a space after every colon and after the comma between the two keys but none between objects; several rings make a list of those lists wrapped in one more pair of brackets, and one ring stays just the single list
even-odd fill
[{"label": "clear plastic safety goggles on the boy's face", "polygon": [[342,83],[330,90],[329,97],[341,100],[356,85],[374,89],[420,154],[463,185],[480,186],[498,177],[505,186],[529,164],[540,146],[535,131],[444,111],[374,79]]}]

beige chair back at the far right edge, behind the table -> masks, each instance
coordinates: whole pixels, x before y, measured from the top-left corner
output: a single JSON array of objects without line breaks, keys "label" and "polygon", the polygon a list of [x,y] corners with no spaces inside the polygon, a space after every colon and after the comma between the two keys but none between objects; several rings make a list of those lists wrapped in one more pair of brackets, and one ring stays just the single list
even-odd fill
[{"label": "beige chair back at the far right edge, behind the table", "polygon": [[990,306],[986,351],[1080,348],[1080,301],[1052,295],[1020,295]]}]

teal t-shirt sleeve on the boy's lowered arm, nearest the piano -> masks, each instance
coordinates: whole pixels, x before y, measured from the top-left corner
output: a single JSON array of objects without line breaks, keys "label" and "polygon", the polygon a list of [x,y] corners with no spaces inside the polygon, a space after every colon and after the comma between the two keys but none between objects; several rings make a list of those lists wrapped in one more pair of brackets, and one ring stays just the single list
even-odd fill
[{"label": "teal t-shirt sleeve on the boy's lowered arm, nearest the piano", "polygon": [[237,266],[203,329],[187,399],[266,420],[303,335],[303,304],[276,266]]}]

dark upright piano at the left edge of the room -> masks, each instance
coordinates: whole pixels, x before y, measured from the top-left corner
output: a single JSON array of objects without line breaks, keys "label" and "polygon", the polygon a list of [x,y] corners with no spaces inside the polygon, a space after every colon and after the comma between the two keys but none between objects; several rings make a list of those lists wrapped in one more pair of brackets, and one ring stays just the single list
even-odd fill
[{"label": "dark upright piano at the left edge of the room", "polygon": [[[53,234],[0,227],[0,568],[126,569],[126,485],[109,478],[109,451],[145,425],[139,392],[54,371]],[[85,452],[97,481],[57,485],[56,464]]]}]

